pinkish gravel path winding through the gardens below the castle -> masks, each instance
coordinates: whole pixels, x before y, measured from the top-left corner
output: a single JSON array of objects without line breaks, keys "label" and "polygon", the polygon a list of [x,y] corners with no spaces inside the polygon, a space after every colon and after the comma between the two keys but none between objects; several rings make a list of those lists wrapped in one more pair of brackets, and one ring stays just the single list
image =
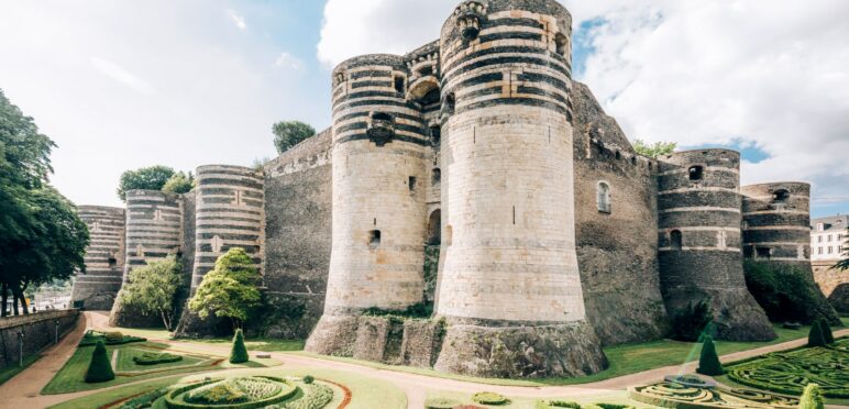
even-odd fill
[{"label": "pinkish gravel path winding through the gardens below the castle", "polygon": [[[62,368],[62,365],[74,353],[76,344],[82,336],[88,322],[89,328],[99,330],[109,329],[108,314],[104,312],[86,312],[86,320],[80,320],[77,329],[67,335],[59,345],[45,352],[45,357],[33,364],[30,368],[19,374],[13,379],[10,379],[4,385],[0,386],[0,396],[7,397],[3,407],[10,408],[44,408],[51,405],[59,404],[69,399],[78,397],[99,394],[104,389],[80,391],[67,395],[53,395],[53,396],[40,396],[38,391],[49,382],[53,375]],[[849,329],[836,331],[836,336],[849,335]],[[197,349],[197,344],[185,343],[180,341],[172,340],[151,340],[154,342],[161,342],[174,345],[183,349]],[[806,339],[790,341],[781,344],[764,346],[756,350],[749,350],[743,352],[737,352],[734,354],[723,355],[720,360],[723,362],[737,361],[750,356],[761,355],[768,352],[782,351],[796,346],[802,346],[807,342]],[[227,355],[230,352],[229,345],[205,345],[205,350],[210,353]],[[374,368],[368,366],[361,366],[352,363],[328,361],[321,358],[315,358],[302,355],[287,354],[287,353],[272,353],[272,356],[282,361],[284,364],[328,368],[335,371],[348,371],[362,376],[377,378],[387,383],[394,384],[407,394],[408,408],[420,409],[423,407],[427,389],[439,389],[460,391],[465,394],[473,394],[481,390],[492,390],[503,395],[515,397],[528,397],[528,398],[543,398],[553,396],[564,396],[578,398],[589,395],[604,395],[614,390],[624,390],[628,386],[641,385],[662,380],[663,376],[670,374],[687,373],[695,369],[696,363],[690,363],[679,366],[666,366],[662,368],[646,371],[637,374],[620,376],[613,379],[600,380],[592,384],[572,385],[572,386],[545,386],[545,387],[520,387],[520,386],[496,386],[496,385],[482,385],[471,382],[453,380],[430,377],[424,375],[416,375],[404,372],[388,371]],[[239,369],[234,369],[239,371]],[[185,376],[186,374],[179,375]],[[148,382],[141,380],[141,382]],[[123,384],[115,387],[124,387],[132,384]],[[114,388],[114,387],[112,387]],[[5,406],[8,405],[8,406]]]}]

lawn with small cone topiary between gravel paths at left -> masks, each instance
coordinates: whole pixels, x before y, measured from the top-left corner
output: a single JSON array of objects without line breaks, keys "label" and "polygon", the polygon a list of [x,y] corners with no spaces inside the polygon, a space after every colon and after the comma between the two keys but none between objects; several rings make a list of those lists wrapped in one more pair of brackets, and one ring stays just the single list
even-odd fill
[{"label": "lawn with small cone topiary between gravel paths at left", "polygon": [[[112,351],[115,349],[118,350],[133,350],[137,349],[143,345],[150,345],[150,346],[166,346],[163,344],[154,344],[154,343],[133,343],[133,344],[124,344],[124,345],[113,345],[113,346],[107,346],[107,354],[112,356]],[[121,385],[126,384],[131,382],[137,382],[142,379],[150,379],[150,378],[158,378],[163,376],[169,376],[169,375],[176,375],[176,374],[188,374],[192,372],[207,372],[207,371],[221,371],[227,368],[245,368],[245,367],[266,367],[266,366],[273,366],[273,365],[279,365],[279,362],[275,360],[253,360],[246,364],[243,365],[232,365],[227,364],[225,362],[220,363],[216,366],[210,366],[214,361],[217,360],[225,360],[224,356],[221,355],[213,355],[209,354],[210,360],[209,365],[208,364],[199,364],[196,366],[179,366],[175,367],[173,369],[168,369],[167,367],[163,368],[166,369],[165,372],[156,371],[155,365],[153,368],[146,367],[145,373],[140,374],[117,374],[115,378],[110,382],[100,383],[100,384],[87,384],[84,378],[86,375],[86,371],[88,369],[88,364],[91,361],[91,353],[95,350],[93,346],[82,346],[78,347],[77,351],[71,355],[71,357],[68,360],[68,362],[65,363],[65,366],[59,369],[58,373],[51,379],[51,382],[47,384],[47,386],[42,389],[43,395],[58,395],[58,394],[69,394],[80,390],[92,390],[92,389],[100,389],[106,388],[114,385]],[[166,352],[177,353],[180,354],[179,351],[172,351],[172,350],[165,350]],[[122,354],[119,352],[119,357]],[[125,354],[128,356],[131,356],[131,354]],[[185,355],[185,354],[184,354]],[[132,360],[132,357],[130,357]]]}]

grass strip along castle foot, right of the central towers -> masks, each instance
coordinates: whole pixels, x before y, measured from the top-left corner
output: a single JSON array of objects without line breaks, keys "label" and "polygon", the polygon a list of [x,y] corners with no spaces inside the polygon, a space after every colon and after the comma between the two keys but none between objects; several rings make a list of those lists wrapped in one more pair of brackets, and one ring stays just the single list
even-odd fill
[{"label": "grass strip along castle foot, right of the central towers", "polygon": [[[844,324],[849,324],[849,320],[844,319]],[[721,355],[735,352],[748,351],[761,346],[780,344],[787,341],[807,338],[811,327],[802,327],[798,330],[786,330],[780,324],[774,324],[778,339],[768,342],[726,342],[715,341],[716,351]],[[373,362],[357,361],[353,358],[324,356],[308,352],[296,352],[299,355],[306,355],[322,360],[348,362],[363,366],[370,366],[387,371],[398,371],[411,374],[433,376],[446,379],[472,382],[486,385],[503,386],[560,386],[578,385],[610,379],[624,375],[636,374],[643,371],[654,369],[663,366],[683,365],[688,362],[698,361],[698,354],[702,352],[702,344],[694,342],[681,342],[673,340],[661,340],[643,342],[639,344],[608,346],[604,349],[610,366],[595,375],[583,376],[578,378],[552,377],[540,379],[492,379],[463,376],[456,374],[446,374],[429,368],[414,368],[409,366],[385,365]]]}]

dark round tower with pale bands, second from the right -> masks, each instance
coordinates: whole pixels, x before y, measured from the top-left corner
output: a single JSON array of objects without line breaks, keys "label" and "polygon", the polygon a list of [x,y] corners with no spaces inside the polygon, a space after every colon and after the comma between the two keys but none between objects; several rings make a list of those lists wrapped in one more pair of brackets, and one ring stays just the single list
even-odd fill
[{"label": "dark round tower with pale bands, second from the right", "polygon": [[719,339],[774,339],[743,277],[740,154],[677,152],[658,165],[661,291],[670,316],[709,301]]}]

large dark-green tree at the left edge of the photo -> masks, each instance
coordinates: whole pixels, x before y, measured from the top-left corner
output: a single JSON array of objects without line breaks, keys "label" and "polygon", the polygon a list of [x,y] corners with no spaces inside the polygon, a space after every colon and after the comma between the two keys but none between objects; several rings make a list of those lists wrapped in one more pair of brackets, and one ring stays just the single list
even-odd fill
[{"label": "large dark-green tree at the left edge of the photo", "polygon": [[0,91],[0,295],[2,316],[31,286],[85,273],[89,234],[74,203],[48,185],[56,144]]}]

